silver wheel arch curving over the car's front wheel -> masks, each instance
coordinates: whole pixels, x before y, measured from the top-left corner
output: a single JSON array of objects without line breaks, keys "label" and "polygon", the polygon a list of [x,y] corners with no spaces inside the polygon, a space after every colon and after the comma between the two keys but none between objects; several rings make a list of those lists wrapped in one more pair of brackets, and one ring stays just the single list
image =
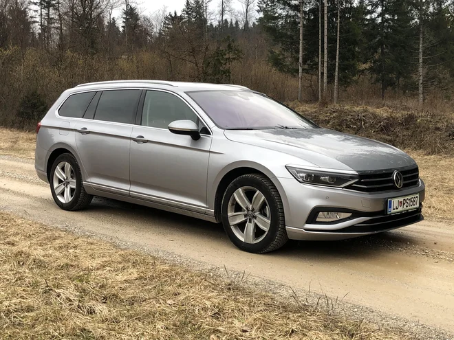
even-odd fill
[{"label": "silver wheel arch curving over the car's front wheel", "polygon": [[221,203],[224,196],[224,192],[230,183],[234,179],[244,175],[244,174],[263,174],[264,176],[268,177],[270,181],[274,184],[281,196],[281,200],[284,207],[284,214],[288,211],[288,200],[285,191],[283,190],[283,186],[279,179],[273,174],[271,170],[266,168],[265,166],[255,163],[255,162],[236,162],[230,164],[230,166],[224,168],[224,170],[218,175],[217,181],[215,181],[215,192],[213,197],[214,202],[214,215],[216,218],[217,223],[221,222]]}]

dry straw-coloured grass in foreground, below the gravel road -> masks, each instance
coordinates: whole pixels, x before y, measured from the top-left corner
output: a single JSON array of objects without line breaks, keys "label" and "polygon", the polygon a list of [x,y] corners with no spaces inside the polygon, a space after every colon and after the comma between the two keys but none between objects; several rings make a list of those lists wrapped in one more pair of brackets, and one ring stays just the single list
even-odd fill
[{"label": "dry straw-coloured grass in foreground, below the gravel road", "polygon": [[[326,308],[325,308],[326,309]],[[1,339],[406,339],[0,212]]]}]

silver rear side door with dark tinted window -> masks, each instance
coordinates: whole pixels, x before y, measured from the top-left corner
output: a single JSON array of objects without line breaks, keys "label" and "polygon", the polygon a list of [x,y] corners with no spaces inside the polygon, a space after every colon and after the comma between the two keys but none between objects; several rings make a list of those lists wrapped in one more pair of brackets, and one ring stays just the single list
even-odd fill
[{"label": "silver rear side door with dark tinted window", "polygon": [[78,154],[96,190],[129,195],[129,139],[141,93],[102,91],[76,124]]}]

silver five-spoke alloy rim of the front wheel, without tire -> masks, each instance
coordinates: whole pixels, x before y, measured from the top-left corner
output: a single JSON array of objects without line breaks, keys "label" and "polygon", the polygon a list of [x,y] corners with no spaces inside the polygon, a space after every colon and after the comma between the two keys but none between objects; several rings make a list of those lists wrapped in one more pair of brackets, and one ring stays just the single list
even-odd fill
[{"label": "silver five-spoke alloy rim of the front wheel, without tire", "polygon": [[268,234],[271,212],[265,196],[253,187],[238,188],[230,197],[228,223],[239,240],[254,244]]}]

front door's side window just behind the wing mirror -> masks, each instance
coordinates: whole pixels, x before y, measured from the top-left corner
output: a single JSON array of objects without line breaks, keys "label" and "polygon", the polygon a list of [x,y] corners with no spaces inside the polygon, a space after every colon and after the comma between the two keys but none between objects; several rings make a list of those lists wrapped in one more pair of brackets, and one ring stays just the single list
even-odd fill
[{"label": "front door's side window just behind the wing mirror", "polygon": [[162,91],[147,91],[141,124],[153,128],[167,128],[175,120],[192,120],[198,124],[194,111],[176,95]]}]

